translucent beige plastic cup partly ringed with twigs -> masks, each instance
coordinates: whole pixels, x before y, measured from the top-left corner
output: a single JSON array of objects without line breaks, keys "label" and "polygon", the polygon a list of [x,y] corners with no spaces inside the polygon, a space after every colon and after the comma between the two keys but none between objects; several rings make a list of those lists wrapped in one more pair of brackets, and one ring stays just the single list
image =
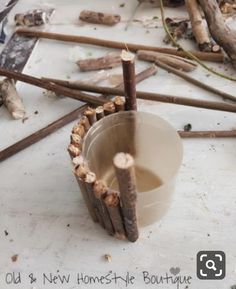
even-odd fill
[{"label": "translucent beige plastic cup partly ringed with twigs", "polygon": [[157,115],[124,111],[102,118],[88,131],[83,155],[98,179],[119,190],[113,167],[118,152],[133,155],[140,226],[150,225],[167,212],[175,188],[183,146],[177,131]]}]

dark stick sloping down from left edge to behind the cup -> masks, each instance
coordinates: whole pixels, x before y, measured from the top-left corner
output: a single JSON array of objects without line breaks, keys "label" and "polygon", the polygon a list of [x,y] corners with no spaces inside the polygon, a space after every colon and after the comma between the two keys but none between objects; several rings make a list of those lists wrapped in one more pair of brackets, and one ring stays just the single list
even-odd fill
[{"label": "dark stick sloping down from left edge to behind the cup", "polygon": [[19,73],[19,72],[10,71],[7,69],[0,68],[0,75],[6,76],[10,79],[23,81],[23,82],[26,82],[28,84],[32,84],[32,85],[35,85],[35,86],[38,86],[41,88],[45,88],[45,89],[54,91],[57,94],[65,95],[65,96],[68,96],[68,97],[73,98],[73,99],[77,99],[77,100],[80,100],[83,102],[88,102],[90,104],[102,105],[105,102],[107,102],[107,100],[104,98],[101,98],[101,97],[98,98],[96,96],[89,95],[89,94],[86,94],[86,93],[83,93],[83,92],[80,92],[77,90],[73,90],[73,89],[52,83],[52,82],[45,81],[45,80],[40,79],[40,78],[36,78],[33,76],[23,74],[23,73]]}]

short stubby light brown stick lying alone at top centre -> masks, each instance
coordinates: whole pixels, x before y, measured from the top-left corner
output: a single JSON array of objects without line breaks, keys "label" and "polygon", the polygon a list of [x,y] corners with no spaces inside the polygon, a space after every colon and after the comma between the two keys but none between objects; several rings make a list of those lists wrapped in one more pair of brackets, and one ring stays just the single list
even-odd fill
[{"label": "short stubby light brown stick lying alone at top centre", "polygon": [[112,26],[112,25],[119,23],[121,17],[118,14],[83,10],[80,13],[79,19],[88,23],[104,24],[104,25]]}]

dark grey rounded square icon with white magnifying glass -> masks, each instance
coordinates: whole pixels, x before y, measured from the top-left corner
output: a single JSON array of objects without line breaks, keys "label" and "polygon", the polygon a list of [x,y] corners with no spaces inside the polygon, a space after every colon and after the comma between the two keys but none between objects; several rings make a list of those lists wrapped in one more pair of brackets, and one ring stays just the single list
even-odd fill
[{"label": "dark grey rounded square icon with white magnifying glass", "polygon": [[197,254],[197,277],[201,280],[225,278],[226,257],[223,251],[200,251]]}]

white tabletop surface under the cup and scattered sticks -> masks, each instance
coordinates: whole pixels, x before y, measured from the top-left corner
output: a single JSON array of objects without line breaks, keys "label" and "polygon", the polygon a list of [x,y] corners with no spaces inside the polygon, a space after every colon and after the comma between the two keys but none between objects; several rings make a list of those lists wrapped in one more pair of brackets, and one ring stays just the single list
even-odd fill
[{"label": "white tabletop surface under the cup and scattered sticks", "polygon": [[[119,5],[125,3],[125,7]],[[55,7],[46,29],[53,32],[79,34],[123,42],[163,45],[161,22],[158,28],[147,29],[140,23],[124,31],[136,2],[92,0],[20,0],[9,17],[8,31],[13,28],[13,16],[34,7]],[[82,9],[120,13],[123,21],[115,27],[78,22]],[[168,9],[169,16],[185,16],[183,9]],[[152,18],[158,9],[140,9],[135,18]],[[233,25],[233,22],[230,23]],[[97,27],[95,30],[94,27]],[[149,30],[149,33],[146,31]],[[191,47],[190,42],[184,44]],[[40,40],[24,72],[38,77],[80,79],[90,73],[79,73],[70,60],[71,48],[80,46]],[[108,49],[80,46],[93,56]],[[3,46],[1,47],[1,49]],[[149,64],[137,62],[140,71]],[[213,65],[224,71],[222,65]],[[120,73],[120,69],[115,69]],[[113,72],[112,72],[113,73]],[[234,73],[228,67],[227,73]],[[215,87],[235,93],[233,82],[208,75],[198,68],[191,75]],[[81,103],[67,98],[50,98],[43,90],[23,83],[17,84],[27,116],[25,123],[12,120],[6,109],[0,108],[0,149],[22,139],[68,113]],[[159,69],[156,76],[138,85],[139,90],[156,91],[178,96],[221,99],[196,88]],[[138,109],[162,116],[176,129],[191,123],[194,130],[232,129],[236,126],[233,113],[138,101]],[[34,114],[35,111],[38,114]],[[0,164],[0,288],[125,288],[125,283],[110,285],[78,285],[77,273],[89,276],[106,275],[109,271],[123,276],[135,276],[128,288],[177,288],[177,285],[145,285],[142,272],[170,274],[179,267],[182,276],[191,276],[189,289],[229,289],[236,283],[236,143],[234,139],[183,140],[184,159],[176,184],[174,201],[168,214],[158,223],[141,229],[135,244],[118,241],[94,224],[85,208],[71,170],[66,151],[73,123],[39,143]],[[69,224],[69,227],[67,226]],[[4,231],[9,233],[5,236]],[[200,250],[222,250],[226,253],[227,273],[222,281],[201,281],[196,277],[196,254]],[[18,254],[16,262],[11,257]],[[104,260],[112,256],[112,262]],[[21,284],[7,285],[7,273],[21,274]],[[29,274],[36,282],[30,284]],[[68,284],[43,284],[45,274],[70,274]],[[8,275],[10,276],[10,275]],[[32,275],[31,275],[32,276]],[[187,288],[180,285],[180,289]]]}]

